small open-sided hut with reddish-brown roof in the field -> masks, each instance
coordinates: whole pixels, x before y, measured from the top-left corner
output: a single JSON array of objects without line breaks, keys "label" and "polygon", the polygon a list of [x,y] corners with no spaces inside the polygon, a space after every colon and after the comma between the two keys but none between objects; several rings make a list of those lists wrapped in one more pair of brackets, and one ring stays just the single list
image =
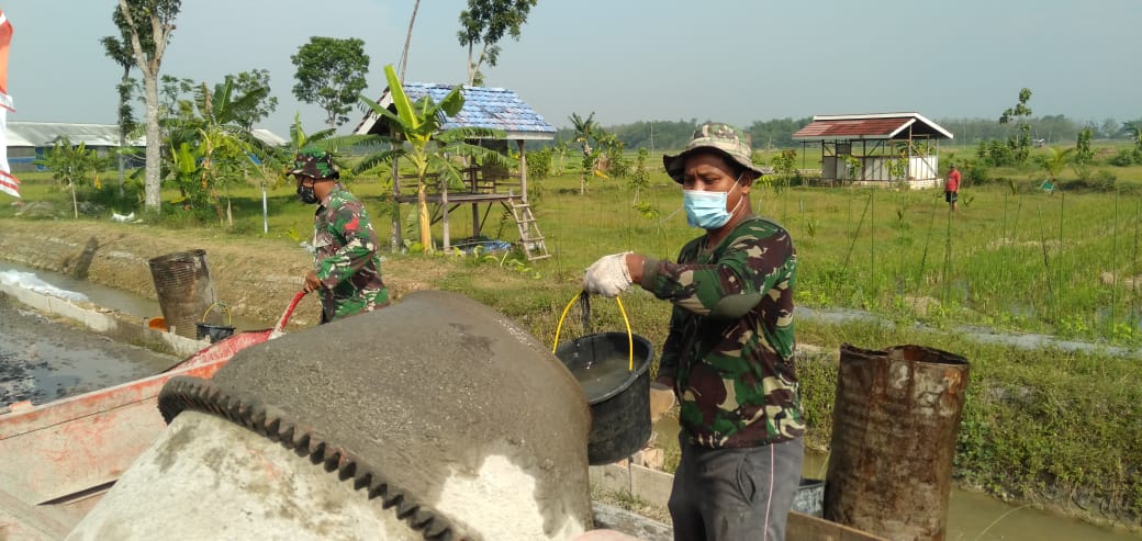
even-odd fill
[{"label": "small open-sided hut with reddish-brown roof in the field", "polygon": [[821,145],[821,179],[866,186],[942,185],[940,140],[950,131],[919,113],[815,115],[793,135]]}]

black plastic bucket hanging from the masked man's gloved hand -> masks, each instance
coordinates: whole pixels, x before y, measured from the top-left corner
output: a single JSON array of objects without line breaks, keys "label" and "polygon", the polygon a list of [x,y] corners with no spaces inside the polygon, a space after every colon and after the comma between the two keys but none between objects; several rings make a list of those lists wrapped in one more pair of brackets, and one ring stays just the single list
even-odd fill
[{"label": "black plastic bucket hanging from the masked man's gloved hand", "polygon": [[[632,340],[634,370],[629,370]],[[650,362],[654,350],[650,341],[637,334],[628,339],[624,332],[602,332],[561,344],[555,356],[577,377],[596,364],[620,363],[625,371],[625,378],[602,391],[589,391],[580,379],[592,414],[587,461],[608,465],[641,450],[651,434]]]}]

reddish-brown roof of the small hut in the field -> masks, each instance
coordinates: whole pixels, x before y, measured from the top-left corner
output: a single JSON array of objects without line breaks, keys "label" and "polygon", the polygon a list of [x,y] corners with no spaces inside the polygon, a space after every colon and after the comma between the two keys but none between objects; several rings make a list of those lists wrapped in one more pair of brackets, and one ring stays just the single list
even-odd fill
[{"label": "reddish-brown roof of the small hut in the field", "polygon": [[919,113],[817,115],[793,135],[794,140],[894,139],[914,136],[951,139],[950,131]]}]

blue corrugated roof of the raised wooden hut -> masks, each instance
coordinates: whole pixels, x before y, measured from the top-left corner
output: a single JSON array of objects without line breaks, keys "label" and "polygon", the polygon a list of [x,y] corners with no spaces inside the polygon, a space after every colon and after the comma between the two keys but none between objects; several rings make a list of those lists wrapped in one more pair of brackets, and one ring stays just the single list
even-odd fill
[{"label": "blue corrugated roof of the raised wooden hut", "polygon": [[[440,103],[452,88],[445,84],[409,82],[404,83],[404,94],[413,102],[427,95]],[[555,138],[555,127],[548,124],[542,115],[523,103],[523,99],[512,90],[466,86],[463,92],[464,107],[456,116],[444,119],[443,129],[490,128],[504,130],[508,139]],[[377,103],[383,107],[392,106],[393,98],[387,88]],[[377,114],[370,111],[353,132],[379,134],[377,121]]]}]

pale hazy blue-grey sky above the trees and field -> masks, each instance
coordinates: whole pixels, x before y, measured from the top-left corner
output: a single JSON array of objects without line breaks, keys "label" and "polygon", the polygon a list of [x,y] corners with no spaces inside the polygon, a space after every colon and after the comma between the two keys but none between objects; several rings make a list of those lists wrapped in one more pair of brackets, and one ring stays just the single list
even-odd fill
[{"label": "pale hazy blue-grey sky above the trees and field", "polygon": [[[280,103],[263,127],[286,136],[300,112],[316,130],[324,115],[293,97],[290,55],[312,35],[364,40],[365,94],[376,98],[412,5],[185,0],[162,72],[212,86],[267,68]],[[0,0],[15,29],[10,121],[115,121],[120,70],[98,42],[116,34],[115,6]],[[408,81],[464,81],[456,33],[465,6],[421,1]],[[1036,116],[1126,121],[1142,118],[1140,23],[1139,0],[540,0],[485,83],[515,90],[556,127],[572,112],[595,112],[604,126],[893,111],[998,118],[1023,87]]]}]

